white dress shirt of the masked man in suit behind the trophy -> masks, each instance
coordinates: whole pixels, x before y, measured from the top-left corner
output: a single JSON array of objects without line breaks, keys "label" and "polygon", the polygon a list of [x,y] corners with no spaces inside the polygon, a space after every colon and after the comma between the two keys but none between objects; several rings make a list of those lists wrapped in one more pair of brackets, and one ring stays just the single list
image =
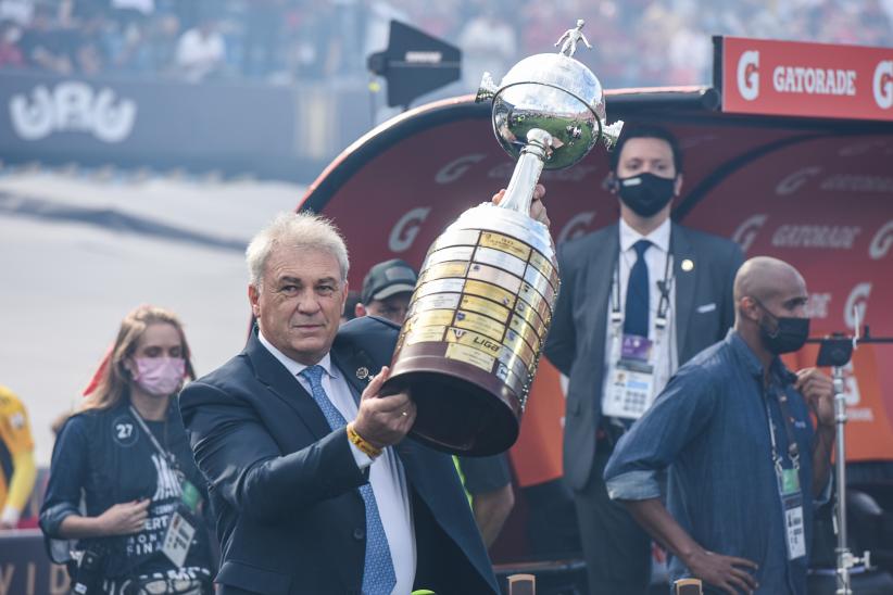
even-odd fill
[{"label": "white dress shirt of the masked man in suit behind the trophy", "polygon": [[[649,267],[649,339],[652,341],[651,365],[654,366],[654,390],[655,395],[664,390],[670,377],[679,367],[679,357],[676,347],[676,283],[672,278],[672,255],[669,253],[671,224],[668,218],[647,236],[642,236],[622,218],[620,219],[620,252],[617,258],[617,266],[620,276],[620,312],[624,314],[627,299],[627,283],[629,282],[629,271],[638,259],[636,249],[632,248],[639,240],[649,240],[651,246],[645,251],[645,264]],[[657,319],[657,307],[661,303],[661,289],[658,282],[664,280],[667,270],[667,258],[669,262],[669,304],[667,311],[667,326],[664,329],[659,342],[657,339],[655,320]],[[620,356],[619,339],[615,338],[614,327],[611,322],[611,312],[616,301],[617,280],[612,274],[612,288],[607,301],[607,332],[605,333],[605,370],[611,369]],[[622,336],[622,321],[619,325],[619,333]],[[602,395],[604,397],[609,382],[608,375],[605,374],[602,384]]]}]

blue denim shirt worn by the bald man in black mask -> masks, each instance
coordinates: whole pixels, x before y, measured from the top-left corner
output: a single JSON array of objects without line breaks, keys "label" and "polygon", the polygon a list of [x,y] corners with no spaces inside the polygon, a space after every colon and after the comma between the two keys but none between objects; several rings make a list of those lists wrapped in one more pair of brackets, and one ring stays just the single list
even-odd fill
[{"label": "blue denim shirt worn by the bald man in black mask", "polygon": [[[667,509],[704,548],[747,558],[757,593],[805,594],[813,532],[813,423],[792,375],[779,358],[764,390],[763,366],[732,329],[724,341],[682,366],[653,407],[617,444],[605,468],[614,499],[661,497],[658,472],[668,468]],[[788,395],[800,450],[806,556],[788,560],[783,505],[771,455],[767,408],[782,467],[792,468],[778,403]],[[676,557],[672,580],[691,577]]]}]

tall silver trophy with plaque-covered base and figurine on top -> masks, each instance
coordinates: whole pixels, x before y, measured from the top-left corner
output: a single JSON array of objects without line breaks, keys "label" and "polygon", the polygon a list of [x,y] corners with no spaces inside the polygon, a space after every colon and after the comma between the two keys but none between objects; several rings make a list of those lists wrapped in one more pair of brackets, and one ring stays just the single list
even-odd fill
[{"label": "tall silver trophy with plaque-covered base and figurine on top", "polygon": [[[518,62],[496,86],[485,73],[476,101],[492,100],[493,130],[518,160],[499,205],[463,213],[422,266],[386,390],[408,388],[411,435],[435,448],[490,455],[517,439],[558,293],[555,249],[529,216],[543,167],[580,161],[622,123],[605,123],[599,79],[573,58],[583,22],[558,53]],[[558,43],[556,43],[557,46]]]}]

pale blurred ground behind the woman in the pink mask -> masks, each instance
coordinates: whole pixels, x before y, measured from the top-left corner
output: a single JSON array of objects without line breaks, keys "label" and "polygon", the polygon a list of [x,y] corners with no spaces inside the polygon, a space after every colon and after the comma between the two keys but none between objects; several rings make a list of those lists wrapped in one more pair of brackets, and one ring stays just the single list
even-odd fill
[{"label": "pale blurred ground behind the woman in the pink mask", "polygon": [[201,375],[249,322],[243,250],[299,186],[113,172],[0,170],[0,384],[30,414],[39,465],[50,423],[77,406],[124,315],[176,312]]}]

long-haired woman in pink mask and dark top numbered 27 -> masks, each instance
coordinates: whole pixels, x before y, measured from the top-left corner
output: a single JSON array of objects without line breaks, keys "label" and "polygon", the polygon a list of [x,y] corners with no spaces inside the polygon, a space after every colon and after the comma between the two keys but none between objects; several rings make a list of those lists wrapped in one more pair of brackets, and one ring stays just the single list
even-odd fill
[{"label": "long-haired woman in pink mask and dark top numbered 27", "polygon": [[60,432],[40,527],[76,541],[73,580],[89,593],[211,593],[204,481],[176,403],[187,378],[179,320],[140,306]]}]

